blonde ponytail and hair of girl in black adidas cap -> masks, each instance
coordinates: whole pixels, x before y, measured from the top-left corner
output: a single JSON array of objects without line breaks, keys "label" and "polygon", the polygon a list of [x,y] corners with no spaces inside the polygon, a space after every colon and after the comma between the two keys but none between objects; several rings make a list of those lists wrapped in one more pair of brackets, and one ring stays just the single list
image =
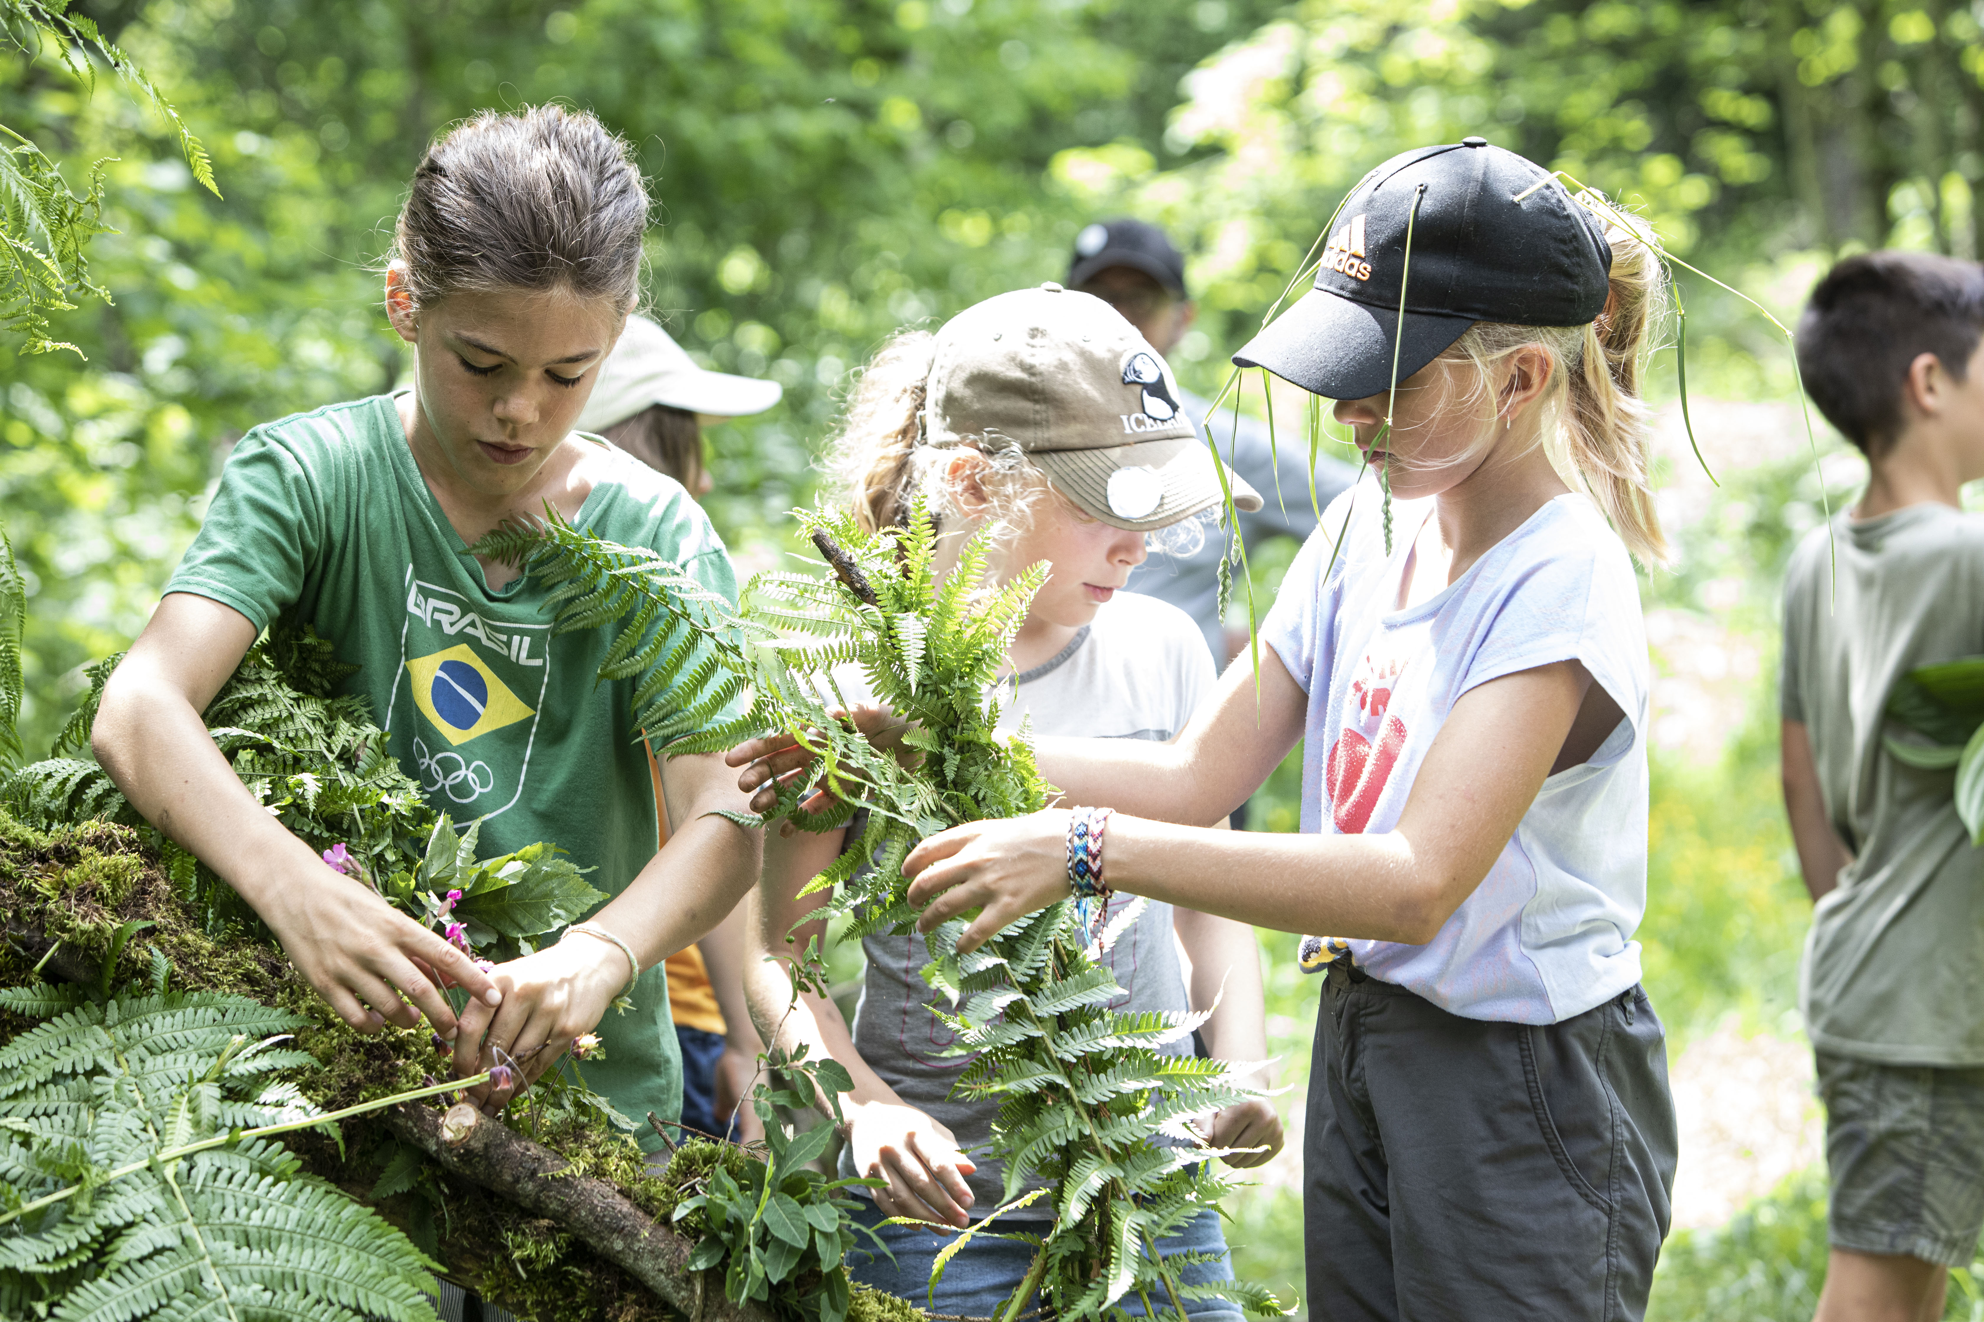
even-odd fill
[{"label": "blonde ponytail and hair of girl in black adidas cap", "polygon": [[1470,361],[1486,381],[1508,353],[1524,345],[1550,349],[1555,373],[1546,398],[1557,418],[1544,436],[1551,460],[1565,480],[1575,474],[1627,551],[1645,565],[1667,565],[1673,553],[1653,503],[1651,410],[1641,396],[1649,333],[1667,309],[1667,272],[1653,246],[1617,212],[1599,214],[1609,220],[1605,242],[1613,264],[1611,293],[1597,321],[1569,327],[1482,321],[1444,357]]}]

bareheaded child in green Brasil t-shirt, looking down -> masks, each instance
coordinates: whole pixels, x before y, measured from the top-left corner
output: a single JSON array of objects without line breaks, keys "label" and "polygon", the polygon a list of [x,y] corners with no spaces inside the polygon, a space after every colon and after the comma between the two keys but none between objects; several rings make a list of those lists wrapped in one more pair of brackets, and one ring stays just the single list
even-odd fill
[{"label": "bareheaded child in green Brasil t-shirt, looking down", "polygon": [[[552,638],[542,591],[468,553],[504,519],[565,519],[736,585],[681,486],[573,434],[639,293],[649,196],[623,141],[561,107],[484,111],[436,139],[399,216],[385,275],[415,385],[250,432],[206,525],[103,694],[95,751],[161,830],[270,926],[345,1023],[454,1043],[454,1068],[506,1052],[498,1108],[599,1027],[587,1078],[617,1106],[673,1118],[679,1058],[661,963],[728,914],[758,872],[754,832],[720,757],[663,765],[673,830],[629,743],[625,684],[593,684],[603,636]],[[323,866],[234,777],[200,712],[278,614],[359,662],[395,757],[429,801],[482,823],[484,850],[538,838],[593,868],[611,900],[587,932],[494,969],[369,886]],[[577,939],[569,939],[577,936]],[[442,989],[468,989],[456,1015]],[[621,993],[639,1013],[605,1015]]]}]

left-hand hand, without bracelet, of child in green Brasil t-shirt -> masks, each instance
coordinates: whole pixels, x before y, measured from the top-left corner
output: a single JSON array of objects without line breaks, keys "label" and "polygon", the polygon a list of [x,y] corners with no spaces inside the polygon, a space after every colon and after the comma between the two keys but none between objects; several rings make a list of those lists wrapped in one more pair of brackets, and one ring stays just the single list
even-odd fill
[{"label": "left-hand hand, without bracelet, of child in green Brasil t-shirt", "polygon": [[[272,886],[260,900],[268,924],[296,971],[359,1033],[381,1025],[413,1029],[427,1015],[434,1031],[456,1037],[454,1009],[442,987],[466,987],[470,1009],[502,1003],[496,983],[474,961],[413,922],[359,880],[304,854],[304,876]],[[369,1009],[367,1009],[369,1007]]]}]

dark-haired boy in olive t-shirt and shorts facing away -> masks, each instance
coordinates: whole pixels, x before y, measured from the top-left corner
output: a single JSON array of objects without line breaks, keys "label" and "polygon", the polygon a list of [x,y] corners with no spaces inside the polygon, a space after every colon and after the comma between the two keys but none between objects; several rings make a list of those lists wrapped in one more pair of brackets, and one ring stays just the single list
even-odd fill
[{"label": "dark-haired boy in olive t-shirt and shorts facing away", "polygon": [[1954,771],[1883,747],[1895,680],[1984,652],[1984,270],[1839,262],[1798,325],[1813,402],[1867,492],[1792,557],[1784,797],[1817,910],[1799,985],[1831,1173],[1817,1318],[1940,1318],[1984,1227],[1984,850]]}]

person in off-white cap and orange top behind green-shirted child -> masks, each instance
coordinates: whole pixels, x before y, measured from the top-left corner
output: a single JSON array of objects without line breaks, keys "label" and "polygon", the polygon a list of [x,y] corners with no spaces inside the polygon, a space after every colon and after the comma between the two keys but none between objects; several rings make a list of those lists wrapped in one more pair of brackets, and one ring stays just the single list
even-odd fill
[{"label": "person in off-white cap and orange top behind green-shirted child", "polygon": [[[629,315],[577,430],[605,436],[700,499],[716,486],[702,462],[702,418],[764,412],[782,394],[776,381],[696,367],[655,321]],[[667,840],[671,815],[659,779],[655,819]],[[758,1114],[742,1106],[762,1043],[744,1007],[742,959],[744,908],[738,906],[706,937],[669,955],[663,973],[682,1048],[682,1126],[750,1142],[764,1138]]]}]

